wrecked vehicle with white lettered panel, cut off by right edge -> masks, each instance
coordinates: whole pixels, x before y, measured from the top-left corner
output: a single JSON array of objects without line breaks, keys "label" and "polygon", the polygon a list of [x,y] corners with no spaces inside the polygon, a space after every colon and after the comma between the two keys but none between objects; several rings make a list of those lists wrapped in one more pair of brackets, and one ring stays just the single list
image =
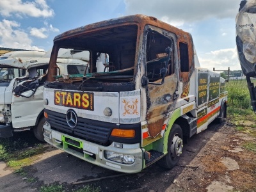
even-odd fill
[{"label": "wrecked vehicle with white lettered panel, cut off by right edge", "polygon": [[256,1],[241,1],[236,16],[236,45],[240,65],[250,92],[253,111],[256,113]]}]

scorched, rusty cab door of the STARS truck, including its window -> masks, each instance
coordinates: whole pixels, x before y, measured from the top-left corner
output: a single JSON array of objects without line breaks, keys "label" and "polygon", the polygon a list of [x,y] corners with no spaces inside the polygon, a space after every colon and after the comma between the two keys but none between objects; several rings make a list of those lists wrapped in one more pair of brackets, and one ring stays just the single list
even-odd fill
[{"label": "scorched, rusty cab door of the STARS truck, including its window", "polygon": [[173,39],[176,37],[169,32],[166,32],[167,35],[163,35],[159,28],[153,26],[150,28],[152,30],[147,33],[145,63],[145,76],[148,79],[148,85],[145,117],[147,126],[143,126],[143,146],[163,137],[169,117],[168,113],[173,111],[179,96],[176,94],[178,77],[174,66],[176,60],[174,52],[177,51],[177,47],[175,47]]}]

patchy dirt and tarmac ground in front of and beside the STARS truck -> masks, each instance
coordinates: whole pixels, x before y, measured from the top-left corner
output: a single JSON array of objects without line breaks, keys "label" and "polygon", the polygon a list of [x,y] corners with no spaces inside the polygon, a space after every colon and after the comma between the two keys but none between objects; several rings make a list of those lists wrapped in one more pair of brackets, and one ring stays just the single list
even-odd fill
[{"label": "patchy dirt and tarmac ground in front of and beside the STARS truck", "polygon": [[[26,177],[0,162],[0,191],[40,191],[40,186],[52,183],[62,184],[65,191],[86,184],[99,186],[100,191],[256,191],[256,153],[244,148],[244,143],[255,141],[246,132],[236,131],[230,120],[211,124],[188,141],[179,165],[172,170],[155,163],[130,175],[86,163],[44,144],[47,151],[24,167]],[[28,177],[35,181],[28,182]],[[102,177],[107,178],[74,184]]]}]

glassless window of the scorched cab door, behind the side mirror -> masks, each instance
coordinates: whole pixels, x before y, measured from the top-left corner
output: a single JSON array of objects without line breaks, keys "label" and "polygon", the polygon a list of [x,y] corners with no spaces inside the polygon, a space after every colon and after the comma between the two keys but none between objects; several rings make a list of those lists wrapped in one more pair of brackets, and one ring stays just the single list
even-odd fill
[{"label": "glassless window of the scorched cab door, behind the side mirror", "polygon": [[[150,31],[148,33],[146,76],[149,81],[157,81],[162,78],[160,71],[161,68],[164,68],[166,60],[168,60],[168,54],[165,52],[165,49],[171,45],[172,39],[156,31]],[[168,61],[167,70],[167,76],[174,73],[172,55]]]}]

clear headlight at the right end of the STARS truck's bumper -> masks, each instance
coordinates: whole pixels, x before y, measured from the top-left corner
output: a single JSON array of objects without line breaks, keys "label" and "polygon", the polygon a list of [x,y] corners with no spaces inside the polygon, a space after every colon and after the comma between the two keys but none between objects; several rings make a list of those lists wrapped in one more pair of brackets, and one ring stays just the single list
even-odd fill
[{"label": "clear headlight at the right end of the STARS truck's bumper", "polygon": [[125,154],[118,154],[115,152],[111,152],[108,150],[104,151],[104,157],[106,159],[109,159],[111,161],[115,161],[118,163],[124,163],[124,164],[132,164],[135,161],[135,157],[131,155],[125,155]]}]

